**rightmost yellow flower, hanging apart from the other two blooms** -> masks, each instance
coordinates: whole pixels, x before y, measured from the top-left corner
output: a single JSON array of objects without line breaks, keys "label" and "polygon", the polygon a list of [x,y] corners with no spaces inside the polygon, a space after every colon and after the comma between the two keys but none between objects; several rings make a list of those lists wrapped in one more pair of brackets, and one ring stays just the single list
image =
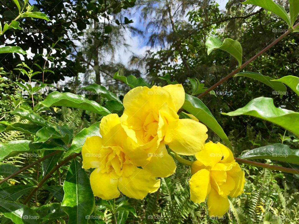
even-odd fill
[{"label": "rightmost yellow flower, hanging apart from the other two blooms", "polygon": [[230,207],[227,196],[243,193],[245,173],[229,148],[221,143],[208,142],[196,155],[189,181],[190,199],[202,203],[208,196],[210,216],[223,216]]}]

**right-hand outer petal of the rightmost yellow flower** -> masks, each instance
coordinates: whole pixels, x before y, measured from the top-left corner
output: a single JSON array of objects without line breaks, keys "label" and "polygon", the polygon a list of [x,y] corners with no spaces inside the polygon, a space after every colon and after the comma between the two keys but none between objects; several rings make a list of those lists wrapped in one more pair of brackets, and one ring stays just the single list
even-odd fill
[{"label": "right-hand outer petal of the rightmost yellow flower", "polygon": [[235,198],[244,192],[245,172],[241,170],[239,164],[236,162],[235,166],[233,166],[231,170],[227,171],[227,174],[235,181],[235,188],[229,194],[230,197]]}]

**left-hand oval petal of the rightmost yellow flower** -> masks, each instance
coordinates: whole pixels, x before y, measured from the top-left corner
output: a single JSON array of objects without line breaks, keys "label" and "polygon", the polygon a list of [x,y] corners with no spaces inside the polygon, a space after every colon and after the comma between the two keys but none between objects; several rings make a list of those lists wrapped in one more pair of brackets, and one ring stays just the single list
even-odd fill
[{"label": "left-hand oval petal of the rightmost yellow flower", "polygon": [[206,169],[197,171],[189,180],[190,199],[202,203],[211,190],[210,172]]}]

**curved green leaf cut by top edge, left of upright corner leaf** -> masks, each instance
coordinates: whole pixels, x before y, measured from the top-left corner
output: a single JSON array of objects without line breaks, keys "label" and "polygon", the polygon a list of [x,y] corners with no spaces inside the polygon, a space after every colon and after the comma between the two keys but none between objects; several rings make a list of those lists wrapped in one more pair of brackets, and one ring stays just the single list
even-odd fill
[{"label": "curved green leaf cut by top edge, left of upright corner leaf", "polygon": [[273,12],[274,14],[278,15],[284,21],[286,21],[289,27],[292,26],[291,19],[290,16],[287,14],[287,11],[281,5],[276,4],[272,0],[246,0],[245,2],[242,2],[242,4],[253,4],[267,9]]}]

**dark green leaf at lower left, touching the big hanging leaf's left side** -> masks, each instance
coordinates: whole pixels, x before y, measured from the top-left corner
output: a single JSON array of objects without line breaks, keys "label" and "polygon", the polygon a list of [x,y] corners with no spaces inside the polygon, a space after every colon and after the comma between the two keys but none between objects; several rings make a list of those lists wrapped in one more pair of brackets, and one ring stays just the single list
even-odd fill
[{"label": "dark green leaf at lower left, touching the big hanging leaf's left side", "polygon": [[62,210],[60,203],[51,203],[40,207],[34,207],[32,210],[39,214],[40,219],[49,220],[67,216],[67,214]]}]

